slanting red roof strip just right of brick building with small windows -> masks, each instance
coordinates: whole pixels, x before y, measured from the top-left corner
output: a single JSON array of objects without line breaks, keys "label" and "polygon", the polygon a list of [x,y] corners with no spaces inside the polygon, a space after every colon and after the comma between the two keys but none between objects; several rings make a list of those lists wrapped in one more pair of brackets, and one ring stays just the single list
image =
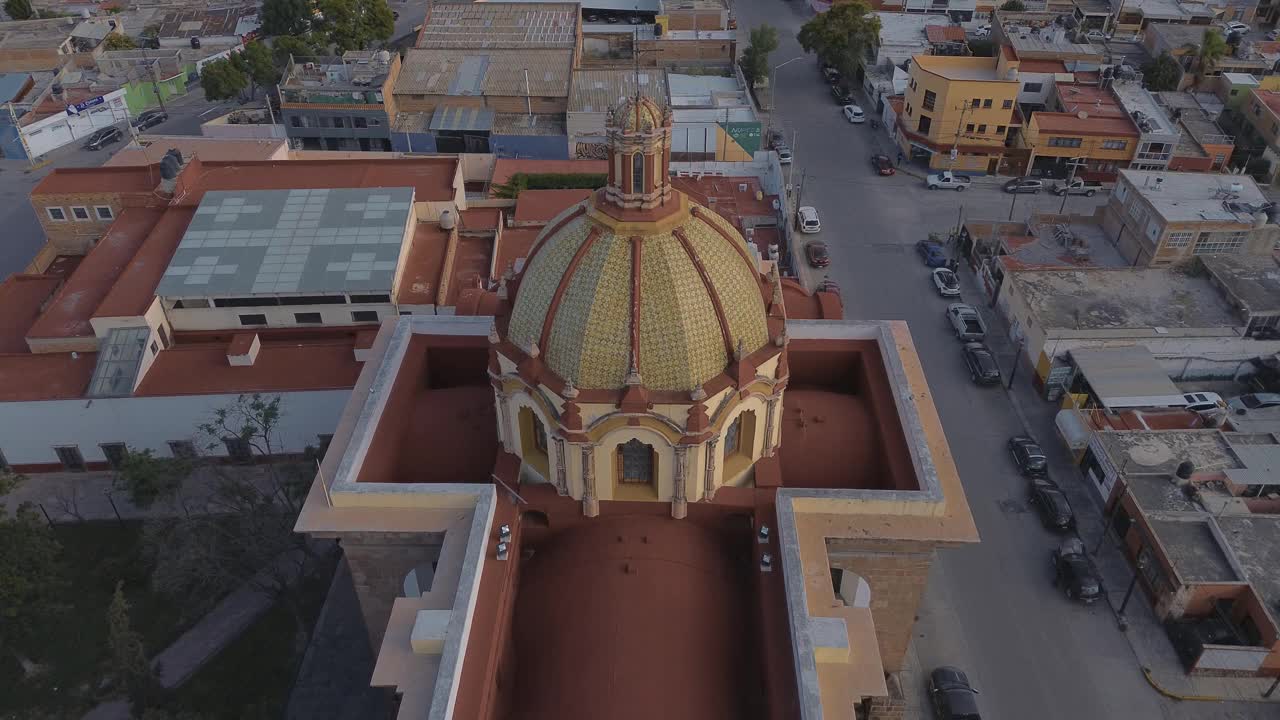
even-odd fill
[{"label": "slanting red roof strip just right of brick building with small windows", "polygon": [[93,334],[90,318],[163,214],[164,210],[159,208],[127,208],[120,213],[28,336],[61,338]]}]

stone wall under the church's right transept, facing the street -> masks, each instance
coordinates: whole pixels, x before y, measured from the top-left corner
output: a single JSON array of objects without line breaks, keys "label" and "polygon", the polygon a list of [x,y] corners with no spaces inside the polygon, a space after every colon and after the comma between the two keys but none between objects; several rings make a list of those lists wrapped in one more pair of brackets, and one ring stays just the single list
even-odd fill
[{"label": "stone wall under the church's right transept, facing the street", "polygon": [[933,564],[933,546],[831,539],[827,552],[832,568],[855,573],[870,585],[881,662],[886,673],[897,673],[911,644],[915,611]]}]

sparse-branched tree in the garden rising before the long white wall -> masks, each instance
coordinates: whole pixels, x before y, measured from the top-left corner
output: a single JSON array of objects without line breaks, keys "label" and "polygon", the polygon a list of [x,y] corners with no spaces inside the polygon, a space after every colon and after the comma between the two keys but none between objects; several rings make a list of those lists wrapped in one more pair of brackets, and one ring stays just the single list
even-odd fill
[{"label": "sparse-branched tree in the garden rising before the long white wall", "polygon": [[211,512],[156,520],[147,525],[147,553],[155,560],[156,591],[187,612],[206,612],[227,592],[250,585],[282,603],[293,616],[300,653],[307,620],[298,580],[317,566],[312,543],[293,532],[314,477],[314,461],[282,464],[278,427],[284,411],[278,396],[242,395],[214,411],[198,428],[209,450],[237,441],[252,465],[210,464]]}]

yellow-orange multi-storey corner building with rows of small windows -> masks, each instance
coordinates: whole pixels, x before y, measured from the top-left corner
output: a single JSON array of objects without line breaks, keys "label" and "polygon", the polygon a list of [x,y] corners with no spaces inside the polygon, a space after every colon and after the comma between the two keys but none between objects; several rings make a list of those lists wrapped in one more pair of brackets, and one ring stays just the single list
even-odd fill
[{"label": "yellow-orange multi-storey corner building with rows of small windows", "polygon": [[897,119],[899,143],[937,170],[996,173],[1020,124],[1018,59],[915,55]]}]

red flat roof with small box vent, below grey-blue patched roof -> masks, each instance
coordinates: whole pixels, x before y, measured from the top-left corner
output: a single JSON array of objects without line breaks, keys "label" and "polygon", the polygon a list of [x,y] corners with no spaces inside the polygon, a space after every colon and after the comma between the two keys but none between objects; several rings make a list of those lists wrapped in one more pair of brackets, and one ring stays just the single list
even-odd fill
[{"label": "red flat roof with small box vent, below grey-blue patched roof", "polygon": [[338,389],[356,384],[355,338],[262,341],[252,365],[227,361],[228,343],[178,343],[156,355],[136,396]]}]

